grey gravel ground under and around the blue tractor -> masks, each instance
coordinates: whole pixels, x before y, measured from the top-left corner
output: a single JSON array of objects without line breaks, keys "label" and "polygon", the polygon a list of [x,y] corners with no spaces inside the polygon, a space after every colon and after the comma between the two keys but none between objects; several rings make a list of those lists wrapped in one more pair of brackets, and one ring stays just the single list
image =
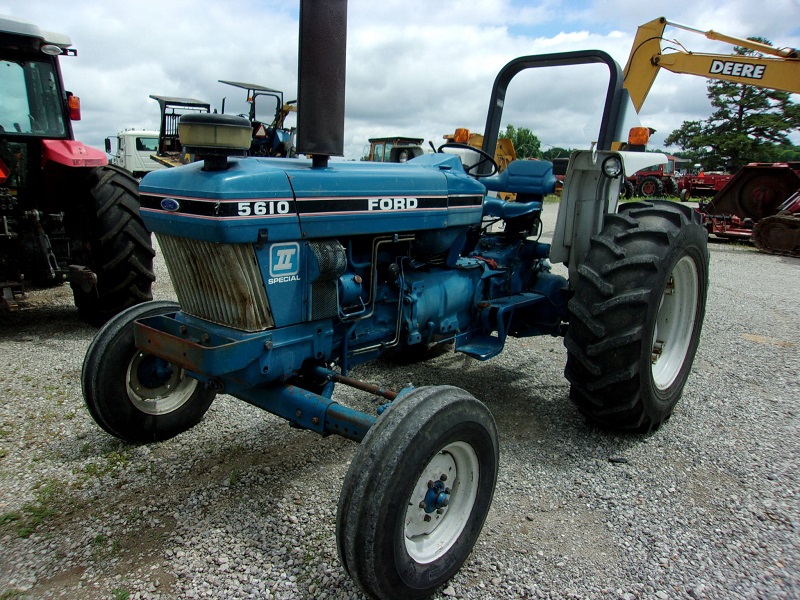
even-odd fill
[{"label": "grey gravel ground under and around the blue tractor", "polygon": [[[170,298],[159,268],[156,297]],[[798,297],[800,260],[711,244],[694,370],[649,436],[577,414],[560,339],[356,370],[459,385],[497,419],[488,522],[436,597],[800,597]],[[83,404],[93,334],[68,287],[0,314],[0,599],[361,597],[335,544],[355,444],[227,396],[175,439],[122,443]]]}]

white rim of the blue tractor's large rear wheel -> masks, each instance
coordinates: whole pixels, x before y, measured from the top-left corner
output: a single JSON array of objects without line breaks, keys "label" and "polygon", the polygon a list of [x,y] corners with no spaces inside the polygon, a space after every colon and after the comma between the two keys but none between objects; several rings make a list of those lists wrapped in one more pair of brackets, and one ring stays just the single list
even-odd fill
[{"label": "white rim of the blue tractor's large rear wheel", "polygon": [[697,265],[682,257],[672,269],[656,317],[651,353],[653,382],[660,390],[675,382],[686,361],[697,313]]}]

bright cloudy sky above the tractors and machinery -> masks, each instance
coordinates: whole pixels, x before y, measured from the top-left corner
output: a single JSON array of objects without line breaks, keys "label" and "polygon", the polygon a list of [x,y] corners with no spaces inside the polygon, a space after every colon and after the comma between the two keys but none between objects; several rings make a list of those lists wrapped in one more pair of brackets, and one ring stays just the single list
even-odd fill
[{"label": "bright cloudy sky above the tractors and machinery", "polygon": [[[62,68],[81,98],[76,137],[98,148],[121,129],[157,128],[150,94],[216,109],[226,98],[225,112],[246,112],[244,91],[218,82],[228,79],[294,99],[298,11],[299,0],[0,0],[0,14],[72,39],[78,55]],[[660,16],[800,48],[800,0],[350,0],[345,157],[359,158],[370,137],[438,144],[456,127],[482,132],[494,77],[509,60],[601,49],[624,66],[636,28]],[[696,52],[732,52],[678,29],[665,36]],[[606,82],[598,66],[525,72],[509,87],[503,126],[529,127],[545,148],[584,147]],[[683,121],[710,114],[705,79],[662,71],[640,119],[659,147]]]}]

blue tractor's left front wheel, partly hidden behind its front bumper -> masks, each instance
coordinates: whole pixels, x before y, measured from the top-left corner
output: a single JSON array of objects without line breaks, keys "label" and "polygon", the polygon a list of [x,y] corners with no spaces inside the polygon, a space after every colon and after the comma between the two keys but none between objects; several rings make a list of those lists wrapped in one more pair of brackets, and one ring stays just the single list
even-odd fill
[{"label": "blue tractor's left front wheel, partly hidden behind its front bumper", "polygon": [[111,435],[128,442],[166,440],[197,425],[211,406],[213,391],[134,343],[134,321],[177,310],[175,302],[163,300],[137,304],[111,318],[89,345],[83,398]]}]

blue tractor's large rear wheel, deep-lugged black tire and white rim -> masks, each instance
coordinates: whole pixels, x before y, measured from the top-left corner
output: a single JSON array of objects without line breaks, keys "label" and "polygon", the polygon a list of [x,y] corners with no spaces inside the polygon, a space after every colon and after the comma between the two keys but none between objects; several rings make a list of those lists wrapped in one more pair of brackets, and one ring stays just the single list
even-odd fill
[{"label": "blue tractor's large rear wheel, deep-lugged black tire and white rim", "polygon": [[578,267],[565,376],[595,423],[647,432],[672,414],[697,351],[708,233],[690,207],[653,200],[608,214]]}]

